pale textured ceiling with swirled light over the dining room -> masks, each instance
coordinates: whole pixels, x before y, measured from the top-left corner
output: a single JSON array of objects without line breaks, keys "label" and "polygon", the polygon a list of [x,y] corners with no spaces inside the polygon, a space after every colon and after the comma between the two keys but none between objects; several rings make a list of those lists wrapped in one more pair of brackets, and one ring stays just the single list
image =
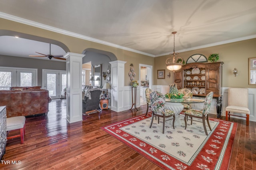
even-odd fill
[{"label": "pale textured ceiling with swirled light over the dining room", "polygon": [[172,31],[176,52],[256,37],[256,0],[8,0],[0,12],[153,57],[173,51]]}]

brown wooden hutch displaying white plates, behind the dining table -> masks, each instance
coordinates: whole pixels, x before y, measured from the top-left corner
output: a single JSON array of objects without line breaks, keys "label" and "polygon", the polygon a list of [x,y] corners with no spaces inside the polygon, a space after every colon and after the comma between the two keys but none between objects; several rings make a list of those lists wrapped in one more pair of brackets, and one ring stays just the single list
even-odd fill
[{"label": "brown wooden hutch displaying white plates, behind the dining table", "polygon": [[213,92],[216,98],[217,118],[220,118],[222,111],[222,64],[216,63],[190,63],[182,66],[174,72],[174,82],[178,89],[188,88],[193,96],[203,97]]}]

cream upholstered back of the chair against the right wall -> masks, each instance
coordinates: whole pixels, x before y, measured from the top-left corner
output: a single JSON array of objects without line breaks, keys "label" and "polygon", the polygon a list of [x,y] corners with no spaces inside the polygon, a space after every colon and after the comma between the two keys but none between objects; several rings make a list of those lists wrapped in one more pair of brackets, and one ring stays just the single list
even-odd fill
[{"label": "cream upholstered back of the chair against the right wall", "polygon": [[248,108],[248,88],[229,88],[228,106],[230,105]]}]

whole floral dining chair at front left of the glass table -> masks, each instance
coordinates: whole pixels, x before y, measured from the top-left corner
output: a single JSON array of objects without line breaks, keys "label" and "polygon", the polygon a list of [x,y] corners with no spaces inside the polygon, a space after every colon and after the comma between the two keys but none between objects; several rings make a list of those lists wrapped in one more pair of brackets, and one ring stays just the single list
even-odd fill
[{"label": "whole floral dining chair at front left of the glass table", "polygon": [[154,117],[158,117],[158,124],[159,124],[159,117],[163,117],[163,133],[164,133],[165,118],[173,117],[172,126],[174,129],[175,114],[174,114],[174,111],[165,109],[165,95],[156,91],[152,92],[150,94],[150,103],[151,103],[151,110],[152,110],[152,119],[151,119],[149,128],[152,127]]}]

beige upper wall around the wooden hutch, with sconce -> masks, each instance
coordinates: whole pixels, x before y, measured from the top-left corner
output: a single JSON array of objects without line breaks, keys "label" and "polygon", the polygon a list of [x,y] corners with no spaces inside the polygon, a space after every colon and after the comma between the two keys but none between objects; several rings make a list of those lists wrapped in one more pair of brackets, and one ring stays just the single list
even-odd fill
[{"label": "beige upper wall around the wooden hutch, with sconce", "polygon": [[[219,53],[220,60],[224,62],[222,72],[222,87],[244,87],[256,88],[256,85],[249,85],[248,74],[248,58],[256,57],[256,39],[248,39],[238,41],[235,43],[228,43],[224,45],[217,45],[193,51],[186,51],[179,53],[185,61],[194,54],[202,54],[207,57],[212,53]],[[158,85],[169,85],[173,82],[173,74],[171,78],[157,79],[157,70],[165,69],[165,74],[169,72],[166,68],[166,59],[169,56],[162,56],[155,58],[154,67],[154,82]],[[238,69],[238,76],[234,77],[232,71],[234,68]],[[166,76],[166,75],[165,75]]]}]

